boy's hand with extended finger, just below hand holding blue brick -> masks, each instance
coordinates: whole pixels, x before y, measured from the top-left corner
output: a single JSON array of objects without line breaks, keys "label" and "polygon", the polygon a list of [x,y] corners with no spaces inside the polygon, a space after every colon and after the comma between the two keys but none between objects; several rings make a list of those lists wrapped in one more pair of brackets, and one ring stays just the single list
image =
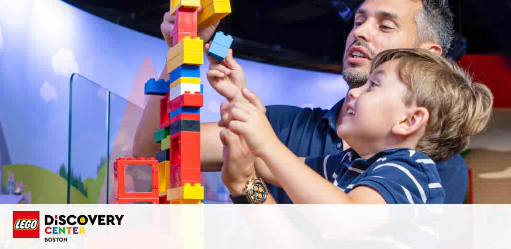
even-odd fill
[{"label": "boy's hand with extended finger, just below hand holding blue brick", "polygon": [[248,88],[242,89],[247,102],[229,103],[228,129],[239,134],[247,143],[250,152],[260,157],[272,144],[280,142],[268,118],[261,99]]}]

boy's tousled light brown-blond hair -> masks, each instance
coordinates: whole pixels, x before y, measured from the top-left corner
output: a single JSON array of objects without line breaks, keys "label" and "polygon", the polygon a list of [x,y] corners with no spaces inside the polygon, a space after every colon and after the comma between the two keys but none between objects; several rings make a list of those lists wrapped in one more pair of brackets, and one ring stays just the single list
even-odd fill
[{"label": "boy's tousled light brown-blond hair", "polygon": [[373,60],[371,72],[390,60],[399,60],[399,76],[409,90],[405,104],[429,112],[417,150],[444,161],[465,150],[470,137],[484,130],[493,106],[489,88],[474,83],[455,63],[422,48],[384,51]]}]

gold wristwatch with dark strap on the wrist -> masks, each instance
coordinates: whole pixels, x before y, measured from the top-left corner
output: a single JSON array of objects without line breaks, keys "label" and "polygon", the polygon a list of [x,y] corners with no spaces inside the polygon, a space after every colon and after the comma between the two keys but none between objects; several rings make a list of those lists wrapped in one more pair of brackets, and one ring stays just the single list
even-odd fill
[{"label": "gold wristwatch with dark strap on the wrist", "polygon": [[234,204],[263,204],[268,197],[268,188],[263,179],[255,177],[245,185],[242,195],[229,195]]}]

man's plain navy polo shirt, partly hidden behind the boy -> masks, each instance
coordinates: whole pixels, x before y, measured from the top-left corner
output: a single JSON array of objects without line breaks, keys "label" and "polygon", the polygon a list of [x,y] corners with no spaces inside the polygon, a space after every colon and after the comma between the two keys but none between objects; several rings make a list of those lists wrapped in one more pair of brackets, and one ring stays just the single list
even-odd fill
[{"label": "man's plain navy polo shirt, partly hidden behind the boy", "polygon": [[[344,98],[330,110],[275,105],[266,116],[277,137],[298,157],[336,155],[343,151],[336,121]],[[460,155],[437,162],[436,168],[446,193],[446,204],[461,204],[467,192],[468,169]],[[307,183],[304,183],[307,184]],[[284,189],[268,184],[275,201],[291,204]]]}]

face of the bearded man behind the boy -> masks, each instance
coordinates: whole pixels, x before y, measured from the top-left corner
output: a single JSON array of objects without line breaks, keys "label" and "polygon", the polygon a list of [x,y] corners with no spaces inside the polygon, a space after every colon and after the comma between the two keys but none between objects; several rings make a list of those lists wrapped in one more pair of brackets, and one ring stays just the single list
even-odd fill
[{"label": "face of the bearded man behind the boy", "polygon": [[366,0],[362,4],[344,49],[342,74],[350,88],[366,83],[376,54],[415,47],[415,15],[421,9],[419,0]]}]

